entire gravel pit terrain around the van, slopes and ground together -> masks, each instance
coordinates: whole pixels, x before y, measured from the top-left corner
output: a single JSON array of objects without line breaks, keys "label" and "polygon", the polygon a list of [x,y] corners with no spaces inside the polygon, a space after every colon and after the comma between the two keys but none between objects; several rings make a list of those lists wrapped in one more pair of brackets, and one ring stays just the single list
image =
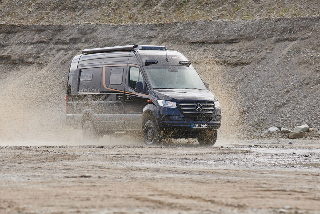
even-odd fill
[{"label": "entire gravel pit terrain around the van, slopes and ground together", "polygon": [[[320,1],[0,1],[0,213],[319,213]],[[213,147],[65,124],[82,49],[165,45],[220,100]],[[301,133],[300,133],[301,134]],[[267,138],[267,139],[263,139]]]}]

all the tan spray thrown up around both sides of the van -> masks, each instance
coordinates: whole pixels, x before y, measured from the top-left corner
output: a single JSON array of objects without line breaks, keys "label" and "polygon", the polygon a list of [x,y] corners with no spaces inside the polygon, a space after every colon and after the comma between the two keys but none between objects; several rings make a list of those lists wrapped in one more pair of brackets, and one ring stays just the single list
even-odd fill
[{"label": "all the tan spray thrown up around both sides of the van", "polygon": [[[57,56],[65,58],[61,53]],[[58,68],[53,63],[20,65],[11,65],[0,79],[0,145],[84,145],[81,130],[65,122],[69,62]],[[220,101],[222,126],[218,142],[221,138],[236,137],[241,124],[238,105],[231,85],[223,79],[224,66],[207,62],[194,65]],[[191,139],[173,142],[174,145],[195,143]],[[99,144],[141,145],[141,141],[104,136]]]}]

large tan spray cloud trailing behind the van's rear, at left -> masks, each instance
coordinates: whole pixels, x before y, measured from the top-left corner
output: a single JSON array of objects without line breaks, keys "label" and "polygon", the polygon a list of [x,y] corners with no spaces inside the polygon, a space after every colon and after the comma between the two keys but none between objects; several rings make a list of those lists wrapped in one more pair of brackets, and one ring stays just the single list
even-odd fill
[{"label": "large tan spray cloud trailing behind the van's rear, at left", "polygon": [[6,71],[0,85],[2,144],[74,144],[82,140],[81,132],[65,124],[65,86],[61,83],[66,84],[67,75],[52,70],[51,66],[12,66]]}]

